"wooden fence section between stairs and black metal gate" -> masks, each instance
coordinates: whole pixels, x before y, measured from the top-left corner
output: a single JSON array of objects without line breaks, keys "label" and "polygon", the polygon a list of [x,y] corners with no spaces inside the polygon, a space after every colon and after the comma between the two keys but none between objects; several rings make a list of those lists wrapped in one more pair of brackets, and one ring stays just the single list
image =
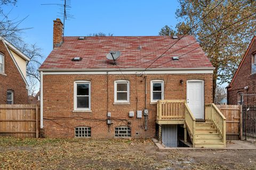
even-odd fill
[{"label": "wooden fence section between stairs and black metal gate", "polygon": [[217,105],[226,117],[227,140],[242,139],[242,105]]}]

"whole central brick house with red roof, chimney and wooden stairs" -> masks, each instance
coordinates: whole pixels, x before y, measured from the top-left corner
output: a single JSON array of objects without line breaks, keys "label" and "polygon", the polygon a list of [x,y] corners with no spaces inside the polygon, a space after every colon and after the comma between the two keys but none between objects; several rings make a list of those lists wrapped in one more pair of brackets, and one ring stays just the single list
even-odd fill
[{"label": "whole central brick house with red roof, chimney and wooden stairs", "polygon": [[[111,51],[121,52],[116,64],[106,58]],[[39,68],[42,133],[225,147],[223,115],[212,123],[221,116],[212,104],[213,70],[193,36],[62,37],[57,19],[53,50]]]}]

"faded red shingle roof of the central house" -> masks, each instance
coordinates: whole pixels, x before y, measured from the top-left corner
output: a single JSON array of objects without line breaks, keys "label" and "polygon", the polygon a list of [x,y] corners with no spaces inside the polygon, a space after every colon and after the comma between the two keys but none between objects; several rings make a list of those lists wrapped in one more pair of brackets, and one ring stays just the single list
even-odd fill
[{"label": "faded red shingle roof of the central house", "polygon": [[[78,37],[64,37],[64,43],[52,50],[39,71],[109,70],[130,69],[131,67],[133,70],[143,69],[153,63],[172,45],[173,47],[167,50],[165,56],[159,58],[150,68],[214,69],[193,36],[184,36],[177,41],[178,39],[169,36],[85,37],[83,40],[79,40]],[[138,49],[139,46],[142,48]],[[117,65],[112,64],[113,61],[106,58],[111,50],[121,51],[121,56],[116,60]],[[77,56],[82,57],[82,60],[79,62],[71,61]],[[179,60],[172,61],[173,56],[180,56]]]}]

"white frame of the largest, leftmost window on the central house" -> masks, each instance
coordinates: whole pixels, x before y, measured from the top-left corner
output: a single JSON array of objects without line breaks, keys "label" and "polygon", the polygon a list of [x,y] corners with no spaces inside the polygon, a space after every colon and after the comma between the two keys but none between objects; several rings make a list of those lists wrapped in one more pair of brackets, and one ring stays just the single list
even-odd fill
[{"label": "white frame of the largest, leftmost window on the central house", "polygon": [[[77,108],[77,84],[89,84],[89,108]],[[85,95],[87,96],[87,95]],[[74,81],[74,111],[91,111],[91,82],[90,81]]]}]

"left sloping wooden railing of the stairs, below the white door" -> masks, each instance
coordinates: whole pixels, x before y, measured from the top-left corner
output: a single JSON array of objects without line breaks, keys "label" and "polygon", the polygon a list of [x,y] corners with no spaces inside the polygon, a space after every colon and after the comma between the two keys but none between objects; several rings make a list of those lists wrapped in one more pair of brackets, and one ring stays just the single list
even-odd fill
[{"label": "left sloping wooden railing of the stairs, below the white door", "polygon": [[196,142],[196,119],[187,104],[185,104],[185,123],[194,148]]}]

